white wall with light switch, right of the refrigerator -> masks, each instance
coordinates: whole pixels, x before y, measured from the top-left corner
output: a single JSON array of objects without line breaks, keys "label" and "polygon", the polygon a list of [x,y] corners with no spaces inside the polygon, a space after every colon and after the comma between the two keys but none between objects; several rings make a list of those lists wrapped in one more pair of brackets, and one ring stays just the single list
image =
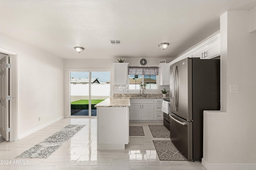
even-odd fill
[{"label": "white wall with light switch, right of the refrigerator", "polygon": [[[256,33],[249,32],[248,11],[226,12],[220,22],[222,111],[204,111],[202,163],[208,169],[256,169]],[[230,84],[239,92],[230,93]]]}]

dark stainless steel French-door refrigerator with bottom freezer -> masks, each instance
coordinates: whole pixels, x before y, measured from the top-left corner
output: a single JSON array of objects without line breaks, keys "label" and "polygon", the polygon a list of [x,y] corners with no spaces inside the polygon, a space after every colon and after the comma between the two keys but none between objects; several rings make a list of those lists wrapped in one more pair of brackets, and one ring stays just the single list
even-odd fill
[{"label": "dark stainless steel French-door refrigerator with bottom freezer", "polygon": [[203,156],[203,111],[220,110],[220,59],[186,58],[170,66],[170,138],[188,159]]}]

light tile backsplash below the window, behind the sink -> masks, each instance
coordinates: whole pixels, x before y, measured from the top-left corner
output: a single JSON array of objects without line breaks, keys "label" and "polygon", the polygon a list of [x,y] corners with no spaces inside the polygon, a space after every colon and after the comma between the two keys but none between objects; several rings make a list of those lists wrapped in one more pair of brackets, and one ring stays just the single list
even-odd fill
[{"label": "light tile backsplash below the window, behind the sink", "polygon": [[[145,90],[146,94],[162,94],[163,89],[170,90],[170,86],[158,86],[158,90]],[[115,94],[139,94],[140,90],[130,90],[128,85],[114,85],[114,95]],[[169,96],[169,92],[166,94]]]}]

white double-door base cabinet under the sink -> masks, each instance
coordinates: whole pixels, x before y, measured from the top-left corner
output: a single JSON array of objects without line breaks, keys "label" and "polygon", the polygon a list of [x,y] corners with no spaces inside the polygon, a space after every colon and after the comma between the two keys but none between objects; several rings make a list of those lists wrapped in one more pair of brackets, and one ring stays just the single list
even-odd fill
[{"label": "white double-door base cabinet under the sink", "polygon": [[154,120],[154,99],[130,99],[130,120]]}]

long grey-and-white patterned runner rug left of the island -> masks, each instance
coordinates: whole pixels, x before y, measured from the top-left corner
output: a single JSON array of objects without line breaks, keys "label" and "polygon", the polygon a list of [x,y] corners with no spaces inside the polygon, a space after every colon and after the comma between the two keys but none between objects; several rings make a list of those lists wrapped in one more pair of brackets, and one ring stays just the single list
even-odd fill
[{"label": "long grey-and-white patterned runner rug left of the island", "polygon": [[60,131],[44,139],[44,141],[26,150],[17,156],[17,158],[47,158],[84,126],[85,125],[67,125],[60,129]]}]

